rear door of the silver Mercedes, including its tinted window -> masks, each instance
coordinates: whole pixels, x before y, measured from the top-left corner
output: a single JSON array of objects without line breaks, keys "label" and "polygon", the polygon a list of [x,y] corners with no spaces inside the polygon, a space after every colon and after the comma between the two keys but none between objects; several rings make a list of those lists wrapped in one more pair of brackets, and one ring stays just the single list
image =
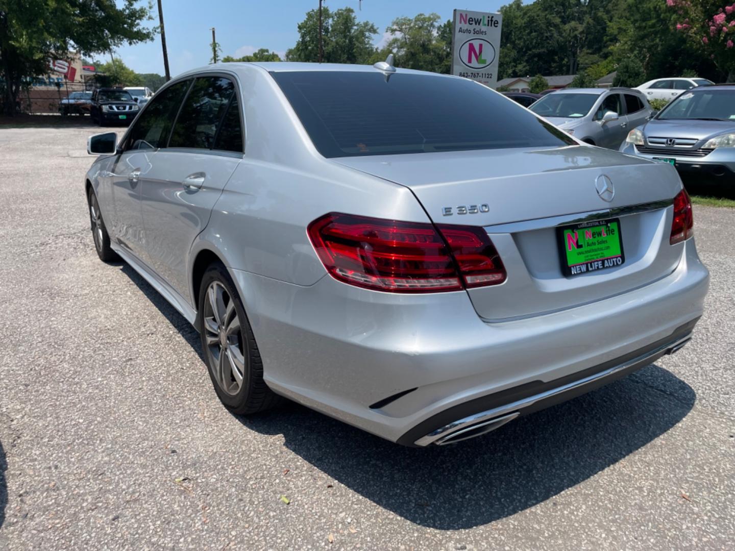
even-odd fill
[{"label": "rear door of the silver Mercedes, including its tinted window", "polygon": [[185,298],[191,245],[243,159],[238,96],[231,77],[198,76],[143,184],[146,262]]}]

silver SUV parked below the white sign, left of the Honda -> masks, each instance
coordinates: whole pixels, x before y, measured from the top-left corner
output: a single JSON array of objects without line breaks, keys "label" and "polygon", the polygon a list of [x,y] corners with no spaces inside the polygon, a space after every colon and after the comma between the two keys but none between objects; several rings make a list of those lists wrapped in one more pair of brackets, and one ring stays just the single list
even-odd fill
[{"label": "silver SUV parked below the white sign, left of the Honda", "polygon": [[653,109],[631,88],[565,88],[529,108],[579,140],[617,149],[631,129],[645,124]]}]

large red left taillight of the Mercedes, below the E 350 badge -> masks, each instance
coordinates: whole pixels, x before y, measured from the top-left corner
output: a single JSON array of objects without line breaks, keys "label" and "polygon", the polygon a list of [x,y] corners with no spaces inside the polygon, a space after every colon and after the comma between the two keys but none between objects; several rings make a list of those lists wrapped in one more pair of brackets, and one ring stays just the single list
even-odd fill
[{"label": "large red left taillight of the Mercedes, below the E 350 badge", "polygon": [[503,264],[481,228],[440,226],[440,231],[430,223],[339,213],[324,215],[308,228],[329,273],[358,287],[435,292],[505,281]]}]

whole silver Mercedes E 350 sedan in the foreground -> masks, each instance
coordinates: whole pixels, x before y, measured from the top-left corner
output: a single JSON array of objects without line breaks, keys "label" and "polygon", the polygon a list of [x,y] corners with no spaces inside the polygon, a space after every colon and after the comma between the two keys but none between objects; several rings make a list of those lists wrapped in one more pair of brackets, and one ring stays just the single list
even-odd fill
[{"label": "whole silver Mercedes E 350 sedan in the foreground", "polygon": [[459,77],[209,65],[87,147],[98,255],[196,325],[235,414],[288,397],[458,442],[675,352],[702,315],[673,167]]}]

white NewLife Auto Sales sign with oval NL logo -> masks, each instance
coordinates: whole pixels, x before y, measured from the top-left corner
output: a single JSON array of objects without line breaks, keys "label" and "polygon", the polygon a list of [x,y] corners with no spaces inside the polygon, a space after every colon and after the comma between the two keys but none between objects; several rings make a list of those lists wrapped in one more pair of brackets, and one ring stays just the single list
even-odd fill
[{"label": "white NewLife Auto Sales sign with oval NL logo", "polygon": [[502,22],[503,16],[499,13],[454,10],[453,75],[495,88],[498,83]]}]

